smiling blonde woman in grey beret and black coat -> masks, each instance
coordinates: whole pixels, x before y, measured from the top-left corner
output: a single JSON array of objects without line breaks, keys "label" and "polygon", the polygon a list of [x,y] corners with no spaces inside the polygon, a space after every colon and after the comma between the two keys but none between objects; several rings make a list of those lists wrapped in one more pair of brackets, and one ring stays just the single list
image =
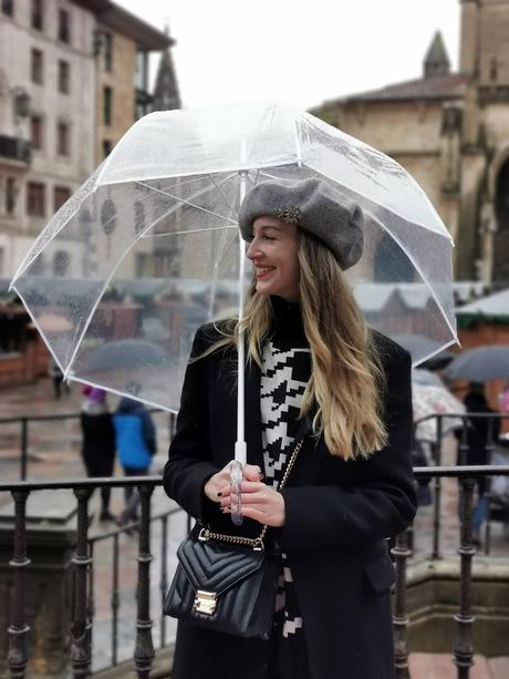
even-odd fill
[{"label": "smiling blonde woman in grey beret and black coat", "polygon": [[[386,539],[416,508],[409,354],[366,328],[342,270],[363,215],[324,182],[266,182],[239,226],[254,267],[243,330],[246,439],[240,528],[228,516],[236,440],[235,321],[198,330],[165,490],[214,531],[281,554],[270,641],[179,621],[174,679],[389,679]],[[303,439],[281,493],[288,453]]]}]

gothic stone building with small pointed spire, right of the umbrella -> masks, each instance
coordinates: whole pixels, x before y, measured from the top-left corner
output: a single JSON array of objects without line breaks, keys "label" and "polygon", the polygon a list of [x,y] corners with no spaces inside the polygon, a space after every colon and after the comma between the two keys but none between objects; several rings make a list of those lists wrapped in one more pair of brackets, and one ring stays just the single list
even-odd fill
[{"label": "gothic stone building with small pointed spire, right of the umbrella", "polygon": [[455,241],[457,280],[509,286],[509,0],[460,0],[459,72],[437,33],[423,76],[312,111],[417,179]]}]

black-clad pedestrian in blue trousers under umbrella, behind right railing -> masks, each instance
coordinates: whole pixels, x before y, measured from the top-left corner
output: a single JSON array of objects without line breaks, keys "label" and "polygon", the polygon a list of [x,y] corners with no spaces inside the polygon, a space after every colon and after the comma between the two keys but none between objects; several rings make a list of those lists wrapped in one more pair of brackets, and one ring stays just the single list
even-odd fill
[{"label": "black-clad pedestrian in blue trousers under umbrella, behind right railing", "polygon": [[[461,429],[455,430],[458,446],[458,464],[490,464],[488,443],[498,441],[500,433],[500,419],[497,416],[487,418],[482,415],[495,415],[495,411],[489,408],[485,395],[485,385],[478,382],[470,382],[464,399],[467,413],[480,414],[480,418],[471,416],[464,420],[465,433]],[[466,444],[465,453],[461,444]],[[486,477],[476,479],[477,498],[474,507],[472,543],[481,546],[481,529],[488,516],[488,498],[486,496],[488,480]]]}]

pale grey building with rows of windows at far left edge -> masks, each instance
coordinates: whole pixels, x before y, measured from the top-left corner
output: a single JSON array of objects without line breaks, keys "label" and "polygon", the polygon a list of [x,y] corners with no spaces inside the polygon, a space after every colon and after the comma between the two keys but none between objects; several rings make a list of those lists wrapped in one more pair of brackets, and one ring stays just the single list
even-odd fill
[{"label": "pale grey building with rows of windows at far left edge", "polygon": [[66,0],[0,4],[0,277],[93,168],[93,31]]}]

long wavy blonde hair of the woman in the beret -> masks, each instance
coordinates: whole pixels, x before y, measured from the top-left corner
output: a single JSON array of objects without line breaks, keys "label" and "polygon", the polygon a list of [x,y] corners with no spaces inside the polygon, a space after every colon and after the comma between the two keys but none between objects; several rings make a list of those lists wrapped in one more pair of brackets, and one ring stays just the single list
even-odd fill
[{"label": "long wavy blonde hair of the woman in the beret", "polygon": [[[300,301],[312,364],[299,416],[303,418],[316,403],[313,432],[323,434],[331,454],[343,460],[366,457],[387,442],[382,420],[384,379],[380,357],[331,250],[301,229],[298,238]],[[216,325],[221,339],[195,360],[229,344],[237,346],[239,331],[243,331],[247,360],[254,360],[262,369],[262,346],[271,332],[272,315],[270,297],[257,294],[253,282],[242,321]]]}]

